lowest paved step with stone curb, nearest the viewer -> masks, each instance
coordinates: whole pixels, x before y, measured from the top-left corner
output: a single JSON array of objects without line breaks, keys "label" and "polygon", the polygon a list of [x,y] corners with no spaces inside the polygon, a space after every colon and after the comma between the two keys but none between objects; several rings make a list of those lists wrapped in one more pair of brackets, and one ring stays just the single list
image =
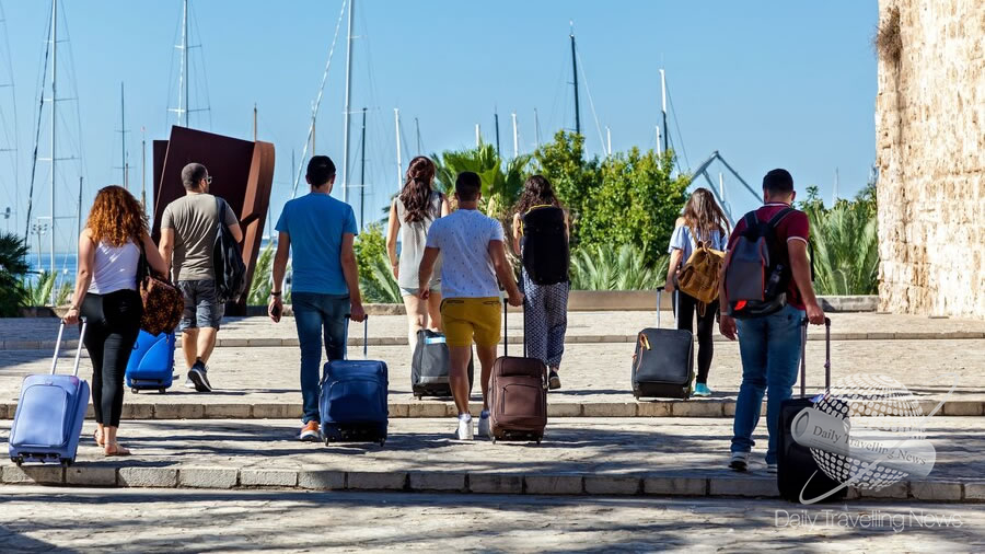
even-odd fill
[{"label": "lowest paved step with stone curb, nearest the viewer", "polygon": [[[758,445],[765,445],[761,422]],[[0,461],[4,484],[116,487],[300,488],[526,495],[776,497],[763,448],[751,471],[726,469],[731,424],[708,419],[563,420],[544,442],[451,438],[455,422],[396,419],[383,447],[303,443],[293,420],[125,423],[130,458],[104,458],[83,429],[78,462],[18,468]],[[0,424],[0,438],[9,424]],[[926,428],[937,464],[925,481],[906,481],[851,498],[985,500],[985,425],[980,418],[937,418]]]}]

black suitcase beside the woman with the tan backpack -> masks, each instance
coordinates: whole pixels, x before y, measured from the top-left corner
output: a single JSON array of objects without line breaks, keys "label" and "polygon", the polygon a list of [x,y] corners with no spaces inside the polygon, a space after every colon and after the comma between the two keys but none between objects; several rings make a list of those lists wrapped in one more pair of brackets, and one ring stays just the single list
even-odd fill
[{"label": "black suitcase beside the woman with the tan backpack", "polygon": [[694,383],[694,335],[686,330],[660,328],[662,292],[663,287],[657,289],[657,327],[645,328],[636,337],[633,395],[687,400]]}]

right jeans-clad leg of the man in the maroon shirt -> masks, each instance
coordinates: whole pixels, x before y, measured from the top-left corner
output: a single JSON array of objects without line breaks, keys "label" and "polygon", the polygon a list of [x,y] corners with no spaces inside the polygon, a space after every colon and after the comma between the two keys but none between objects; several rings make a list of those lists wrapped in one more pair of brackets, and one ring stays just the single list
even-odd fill
[{"label": "right jeans-clad leg of the man in the maroon shirt", "polygon": [[779,429],[780,404],[790,397],[797,382],[800,362],[801,325],[804,312],[792,305],[766,318],[769,351],[766,365],[766,429],[769,442],[766,463],[776,463],[776,438]]}]

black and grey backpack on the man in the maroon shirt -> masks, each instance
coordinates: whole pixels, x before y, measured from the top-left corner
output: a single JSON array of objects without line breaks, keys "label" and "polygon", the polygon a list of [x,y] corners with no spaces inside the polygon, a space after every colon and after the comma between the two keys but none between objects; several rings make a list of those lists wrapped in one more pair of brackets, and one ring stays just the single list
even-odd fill
[{"label": "black and grey backpack on the man in the maroon shirt", "polygon": [[793,274],[786,243],[776,240],[776,227],[792,212],[793,208],[784,208],[767,222],[760,221],[755,210],[743,218],[745,230],[729,254],[725,276],[732,318],[761,318],[787,305],[787,286]]}]

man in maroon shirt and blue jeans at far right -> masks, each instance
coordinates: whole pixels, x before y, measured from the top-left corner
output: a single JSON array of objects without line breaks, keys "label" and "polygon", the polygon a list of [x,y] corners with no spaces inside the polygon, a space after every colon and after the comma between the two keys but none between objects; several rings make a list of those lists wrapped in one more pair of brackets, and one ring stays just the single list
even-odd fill
[{"label": "man in maroon shirt and blue jeans at far right", "polygon": [[[769,221],[781,210],[790,208],[797,193],[793,177],[786,170],[773,170],[763,177],[764,206],[755,211],[756,219]],[[745,232],[745,218],[735,226],[729,239],[729,252]],[[815,325],[824,323],[824,311],[818,304],[811,286],[811,266],[808,259],[808,238],[810,229],[807,215],[791,209],[776,223],[774,244],[785,244],[776,252],[786,259],[780,263],[790,268],[787,286],[787,305],[770,315],[735,321],[729,315],[725,279],[721,280],[721,334],[730,341],[739,336],[739,353],[742,358],[742,385],[735,404],[735,419],[731,459],[729,466],[745,471],[749,453],[754,441],[753,430],[760,422],[763,394],[766,393],[766,428],[769,442],[766,449],[766,469],[776,472],[776,437],[779,434],[780,403],[790,397],[797,382],[797,366],[800,361],[800,322],[804,314]],[[774,249],[770,249],[773,251]],[[728,266],[729,259],[725,265]],[[726,267],[722,267],[722,276]]]}]

